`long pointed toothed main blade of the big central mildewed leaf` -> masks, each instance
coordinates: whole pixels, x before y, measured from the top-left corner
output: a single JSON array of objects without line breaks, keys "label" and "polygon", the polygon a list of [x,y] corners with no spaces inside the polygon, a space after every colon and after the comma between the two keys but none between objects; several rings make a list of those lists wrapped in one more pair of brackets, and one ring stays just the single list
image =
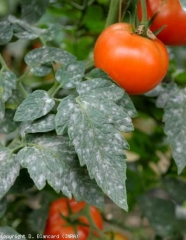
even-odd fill
[{"label": "long pointed toothed main blade of the big central mildewed leaf", "polygon": [[90,177],[115,203],[127,209],[124,155],[127,144],[122,135],[100,111],[91,108],[76,111],[69,125],[69,136],[81,165],[86,164]]}]

